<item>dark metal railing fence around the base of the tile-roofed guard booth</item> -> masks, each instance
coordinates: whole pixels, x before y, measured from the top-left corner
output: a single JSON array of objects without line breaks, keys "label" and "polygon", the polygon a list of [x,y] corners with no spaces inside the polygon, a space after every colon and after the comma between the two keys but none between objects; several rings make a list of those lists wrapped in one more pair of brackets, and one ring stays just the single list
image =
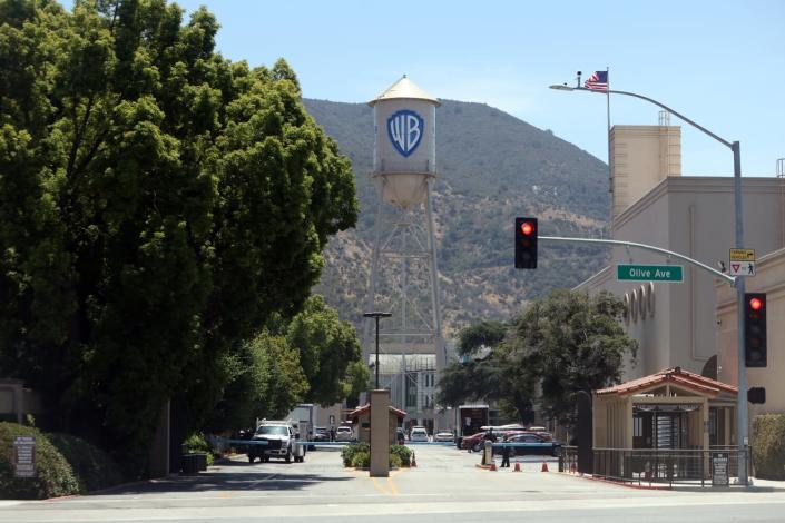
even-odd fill
[{"label": "dark metal railing fence around the base of the tile-roofed guard booth", "polygon": [[[744,452],[749,475],[749,448]],[[713,446],[708,451],[595,448],[592,474],[595,477],[631,483],[727,484],[730,477],[738,477],[738,447],[735,446]]]}]

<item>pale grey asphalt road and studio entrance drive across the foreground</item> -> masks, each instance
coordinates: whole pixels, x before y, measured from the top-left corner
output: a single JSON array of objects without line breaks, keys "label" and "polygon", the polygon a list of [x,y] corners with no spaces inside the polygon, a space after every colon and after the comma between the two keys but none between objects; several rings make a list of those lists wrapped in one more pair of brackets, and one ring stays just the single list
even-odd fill
[{"label": "pale grey asphalt road and studio entrance drive across the foreground", "polygon": [[[337,450],[305,463],[235,461],[196,476],[169,477],[105,492],[37,502],[0,501],[13,523],[286,521],[783,522],[784,489],[635,490],[556,472],[527,457],[523,472],[478,468],[478,454],[416,446],[418,467],[372,478],[344,470]],[[550,471],[557,463],[549,458]]]}]

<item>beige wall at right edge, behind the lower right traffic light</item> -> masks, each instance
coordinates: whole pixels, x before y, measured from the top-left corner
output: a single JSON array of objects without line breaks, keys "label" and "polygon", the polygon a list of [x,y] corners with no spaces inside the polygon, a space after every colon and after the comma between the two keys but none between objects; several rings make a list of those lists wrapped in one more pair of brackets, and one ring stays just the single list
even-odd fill
[{"label": "beige wall at right edge, behind the lower right traffic light", "polygon": [[[757,254],[757,253],[756,253]],[[758,414],[785,413],[785,249],[759,257],[755,277],[745,282],[746,292],[766,293],[767,366],[748,368],[747,384],[766,388],[766,403],[749,404],[749,418]],[[717,297],[717,377],[738,384],[736,292],[727,285],[715,288]],[[744,394],[744,393],[743,393]]]}]

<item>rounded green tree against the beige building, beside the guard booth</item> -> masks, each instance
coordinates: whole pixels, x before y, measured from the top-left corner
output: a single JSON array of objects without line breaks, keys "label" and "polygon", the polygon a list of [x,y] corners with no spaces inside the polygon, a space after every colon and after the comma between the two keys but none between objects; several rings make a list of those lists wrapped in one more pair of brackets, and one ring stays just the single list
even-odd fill
[{"label": "rounded green tree against the beige building, beside the guard booth", "polygon": [[556,290],[523,310],[513,344],[540,384],[547,416],[572,425],[576,393],[618,383],[625,357],[635,361],[637,342],[619,323],[622,312],[610,293],[571,290]]}]

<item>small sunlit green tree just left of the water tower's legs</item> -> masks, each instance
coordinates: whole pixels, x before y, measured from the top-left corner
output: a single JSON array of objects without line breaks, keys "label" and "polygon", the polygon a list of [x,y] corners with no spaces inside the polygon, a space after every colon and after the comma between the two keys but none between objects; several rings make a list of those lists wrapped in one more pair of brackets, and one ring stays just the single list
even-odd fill
[{"label": "small sunlit green tree just left of the water tower's legs", "polygon": [[311,384],[308,402],[332,405],[367,384],[370,375],[362,371],[366,366],[357,365],[361,351],[354,326],[341,322],[322,296],[308,298],[303,312],[292,319],[286,339],[300,352]]}]

